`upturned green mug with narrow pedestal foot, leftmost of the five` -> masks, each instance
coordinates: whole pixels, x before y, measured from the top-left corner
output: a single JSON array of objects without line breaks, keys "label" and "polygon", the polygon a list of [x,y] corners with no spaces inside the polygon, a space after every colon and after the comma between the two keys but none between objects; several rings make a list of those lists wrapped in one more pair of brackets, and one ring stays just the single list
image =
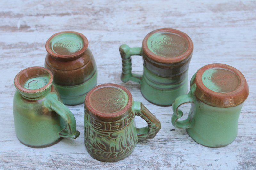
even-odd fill
[{"label": "upturned green mug with narrow pedestal foot, leftmost of the five", "polygon": [[43,67],[26,68],[14,79],[15,131],[26,146],[48,147],[62,138],[76,139],[80,134],[74,115],[61,102],[52,79],[52,73]]}]

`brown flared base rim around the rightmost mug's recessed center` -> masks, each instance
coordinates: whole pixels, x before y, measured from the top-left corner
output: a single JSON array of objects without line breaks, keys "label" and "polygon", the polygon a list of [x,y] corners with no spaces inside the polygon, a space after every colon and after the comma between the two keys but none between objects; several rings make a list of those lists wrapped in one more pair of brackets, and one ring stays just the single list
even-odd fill
[{"label": "brown flared base rim around the rightmost mug's recessed center", "polygon": [[[229,70],[229,71],[235,73],[240,80],[240,84],[232,92],[222,93],[222,92],[215,92],[215,91],[208,89],[202,81],[202,75],[203,75],[204,71],[206,71],[210,68],[223,68],[223,69],[226,69],[226,70]],[[226,65],[226,64],[216,63],[216,64],[205,65],[204,67],[200,68],[197,71],[192,85],[194,83],[196,83],[196,90],[194,92],[196,98],[208,105],[215,106],[215,107],[237,106],[237,105],[243,103],[249,95],[249,86],[246,82],[244,75],[236,68]],[[204,100],[201,99],[202,96],[204,97]],[[227,101],[229,101],[229,99],[232,99],[232,98],[233,98],[232,101],[234,101],[233,104],[230,104],[230,103],[226,104]]]}]

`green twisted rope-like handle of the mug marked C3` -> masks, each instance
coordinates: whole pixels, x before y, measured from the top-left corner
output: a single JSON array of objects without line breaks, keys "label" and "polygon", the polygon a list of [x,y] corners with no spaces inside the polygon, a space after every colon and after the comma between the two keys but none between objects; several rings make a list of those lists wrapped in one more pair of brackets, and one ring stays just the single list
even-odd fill
[{"label": "green twisted rope-like handle of the mug marked C3", "polygon": [[130,48],[126,44],[122,44],[119,47],[119,52],[122,58],[122,74],[121,80],[125,83],[129,80],[132,80],[136,83],[140,84],[140,80],[142,75],[132,73],[132,55],[140,55],[141,56],[141,47]]}]

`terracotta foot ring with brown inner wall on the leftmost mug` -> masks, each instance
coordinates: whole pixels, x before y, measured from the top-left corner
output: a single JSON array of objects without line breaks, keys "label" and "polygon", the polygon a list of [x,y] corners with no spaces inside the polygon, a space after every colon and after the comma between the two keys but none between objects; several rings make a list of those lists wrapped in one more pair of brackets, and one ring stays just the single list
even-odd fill
[{"label": "terracotta foot ring with brown inner wall on the leftmost mug", "polygon": [[[37,74],[39,71],[39,74]],[[44,85],[44,87],[41,87],[39,89],[26,89],[22,85],[28,80],[28,78],[35,77],[37,75],[40,75],[40,73],[47,72],[50,75],[50,80],[49,82]],[[47,87],[49,87],[52,84],[53,76],[52,72],[44,67],[28,67],[24,70],[21,70],[14,78],[14,85],[17,89],[19,89],[22,92],[26,93],[36,93],[36,92],[41,92]]]}]

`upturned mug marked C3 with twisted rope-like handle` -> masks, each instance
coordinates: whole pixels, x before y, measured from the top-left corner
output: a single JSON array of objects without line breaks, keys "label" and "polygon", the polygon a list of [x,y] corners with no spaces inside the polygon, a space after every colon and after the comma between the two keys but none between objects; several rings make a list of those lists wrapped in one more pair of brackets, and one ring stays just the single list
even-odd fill
[{"label": "upturned mug marked C3 with twisted rope-like handle", "polygon": [[[149,102],[159,106],[171,106],[175,98],[187,94],[188,66],[193,43],[187,34],[162,28],[148,33],[142,47],[119,48],[122,57],[121,80],[140,83],[141,93]],[[131,56],[143,58],[143,75],[133,74]]]}]

